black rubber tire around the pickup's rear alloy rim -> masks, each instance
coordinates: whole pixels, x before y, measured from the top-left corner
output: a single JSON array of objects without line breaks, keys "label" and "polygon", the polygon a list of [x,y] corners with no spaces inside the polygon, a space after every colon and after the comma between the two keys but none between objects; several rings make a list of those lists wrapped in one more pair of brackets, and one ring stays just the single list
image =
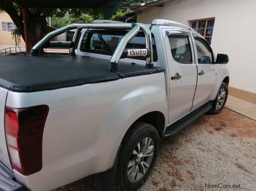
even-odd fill
[{"label": "black rubber tire around the pickup's rear alloy rim", "polygon": [[[133,158],[133,151],[141,140],[149,137],[153,140],[153,158],[145,174],[138,181],[131,181],[128,178],[128,163]],[[151,142],[152,143],[152,142]],[[117,164],[116,188],[119,191],[137,190],[148,178],[155,164],[159,151],[158,131],[150,124],[138,121],[135,122],[125,134],[120,148],[120,154]],[[146,157],[144,158],[145,160]],[[143,160],[144,160],[143,159]],[[133,160],[133,159],[132,159]],[[130,167],[131,168],[131,167]],[[139,167],[138,167],[139,168]]]}]

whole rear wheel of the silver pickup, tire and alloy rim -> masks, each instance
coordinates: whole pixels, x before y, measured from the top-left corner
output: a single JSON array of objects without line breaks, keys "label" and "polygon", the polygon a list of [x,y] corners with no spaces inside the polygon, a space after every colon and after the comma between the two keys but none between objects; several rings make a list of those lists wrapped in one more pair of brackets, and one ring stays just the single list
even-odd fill
[{"label": "whole rear wheel of the silver pickup, tire and alloy rim", "polygon": [[148,123],[134,123],[121,143],[116,174],[117,189],[137,190],[148,178],[158,150],[158,131]]}]

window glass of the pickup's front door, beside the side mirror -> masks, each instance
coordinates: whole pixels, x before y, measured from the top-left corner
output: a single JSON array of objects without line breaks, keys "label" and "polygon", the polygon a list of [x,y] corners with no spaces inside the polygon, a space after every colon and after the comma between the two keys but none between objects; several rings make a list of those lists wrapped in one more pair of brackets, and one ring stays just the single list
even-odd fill
[{"label": "window glass of the pickup's front door, beside the side mirror", "polygon": [[207,44],[207,42],[197,36],[194,36],[195,39],[195,45],[197,50],[197,59],[198,63],[212,63],[212,50],[210,46]]}]

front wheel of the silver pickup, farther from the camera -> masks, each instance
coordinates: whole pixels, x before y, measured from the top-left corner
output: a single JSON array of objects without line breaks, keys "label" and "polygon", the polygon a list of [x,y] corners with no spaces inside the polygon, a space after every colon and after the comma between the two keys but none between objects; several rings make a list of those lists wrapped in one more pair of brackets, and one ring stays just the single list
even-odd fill
[{"label": "front wheel of the silver pickup, farther from the camera", "polygon": [[227,84],[222,82],[219,88],[218,95],[216,99],[212,103],[212,108],[208,112],[209,114],[218,114],[226,104],[228,95],[228,87]]}]

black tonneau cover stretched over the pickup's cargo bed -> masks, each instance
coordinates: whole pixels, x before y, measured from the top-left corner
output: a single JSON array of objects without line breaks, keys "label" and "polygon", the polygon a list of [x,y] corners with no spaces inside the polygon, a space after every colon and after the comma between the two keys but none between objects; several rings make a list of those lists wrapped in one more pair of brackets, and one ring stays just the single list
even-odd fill
[{"label": "black tonneau cover stretched over the pickup's cargo bed", "polygon": [[0,86],[13,92],[37,92],[162,72],[145,65],[118,63],[118,73],[106,71],[109,60],[79,55],[1,56]]}]

